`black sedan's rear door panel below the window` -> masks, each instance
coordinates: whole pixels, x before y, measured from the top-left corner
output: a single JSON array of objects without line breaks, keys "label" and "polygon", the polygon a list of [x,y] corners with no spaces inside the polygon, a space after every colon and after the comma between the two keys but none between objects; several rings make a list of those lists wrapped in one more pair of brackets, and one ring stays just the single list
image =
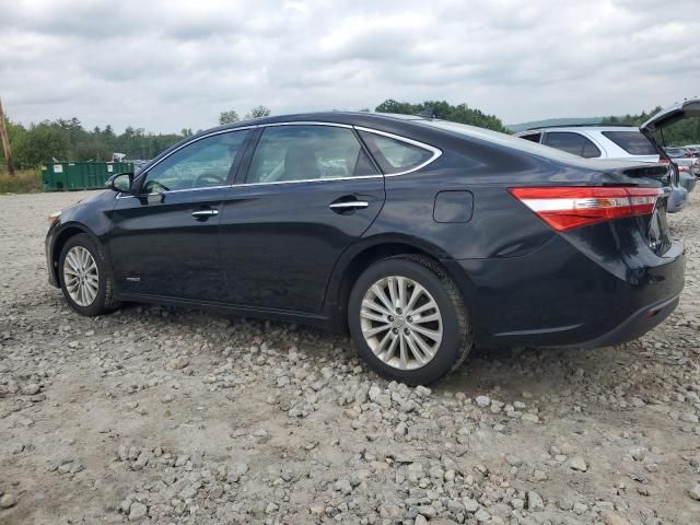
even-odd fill
[{"label": "black sedan's rear door panel below the window", "polygon": [[[357,200],[366,207],[334,203]],[[318,313],[340,254],[384,205],[384,178],[241,185],[221,213],[226,301]],[[360,205],[362,206],[362,205]]]}]

